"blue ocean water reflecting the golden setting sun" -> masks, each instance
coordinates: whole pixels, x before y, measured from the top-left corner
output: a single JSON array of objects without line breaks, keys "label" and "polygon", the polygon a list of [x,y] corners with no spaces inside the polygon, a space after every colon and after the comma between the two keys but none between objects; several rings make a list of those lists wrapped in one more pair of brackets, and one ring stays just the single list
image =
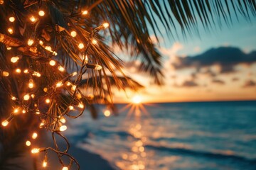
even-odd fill
[{"label": "blue ocean water reflecting the golden setting sun", "polygon": [[124,170],[256,169],[256,101],[117,108],[118,116],[70,121],[68,138]]}]

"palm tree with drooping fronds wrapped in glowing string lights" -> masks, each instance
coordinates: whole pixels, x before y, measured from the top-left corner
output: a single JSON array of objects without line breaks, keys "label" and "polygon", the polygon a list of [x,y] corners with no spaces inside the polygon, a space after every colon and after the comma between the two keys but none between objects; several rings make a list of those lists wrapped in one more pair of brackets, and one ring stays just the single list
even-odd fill
[{"label": "palm tree with drooping fronds wrapped in glowing string lights", "polygon": [[[9,148],[22,141],[15,134],[28,135],[28,128],[38,127],[38,121],[55,142],[55,135],[63,137],[60,130],[66,128],[63,117],[78,118],[85,106],[95,115],[92,103],[102,98],[111,106],[113,85],[139,87],[122,72],[113,45],[129,49],[131,59],[142,61],[140,70],[163,84],[162,58],[150,29],[157,40],[163,31],[169,38],[178,29],[189,35],[197,33],[200,24],[210,30],[232,23],[232,13],[250,19],[255,9],[253,0],[0,0],[1,118],[6,118],[2,125],[13,119],[12,128],[1,130],[2,145]],[[74,107],[82,108],[78,115],[70,113]],[[21,112],[36,114],[25,117]],[[68,148],[68,141],[65,151],[55,142],[54,148],[33,151],[50,149],[60,164],[70,166],[75,159]],[[70,157],[69,165],[63,155]]]}]

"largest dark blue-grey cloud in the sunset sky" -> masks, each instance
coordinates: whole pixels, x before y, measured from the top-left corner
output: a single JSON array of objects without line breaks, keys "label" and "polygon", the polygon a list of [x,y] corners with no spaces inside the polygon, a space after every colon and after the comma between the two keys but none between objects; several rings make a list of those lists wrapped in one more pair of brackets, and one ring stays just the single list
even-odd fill
[{"label": "largest dark blue-grey cloud in the sunset sky", "polygon": [[212,48],[201,55],[193,57],[178,57],[172,65],[175,69],[184,69],[189,67],[211,67],[218,65],[220,73],[235,72],[235,66],[238,64],[252,64],[256,62],[256,51],[245,54],[236,47],[218,47]]}]

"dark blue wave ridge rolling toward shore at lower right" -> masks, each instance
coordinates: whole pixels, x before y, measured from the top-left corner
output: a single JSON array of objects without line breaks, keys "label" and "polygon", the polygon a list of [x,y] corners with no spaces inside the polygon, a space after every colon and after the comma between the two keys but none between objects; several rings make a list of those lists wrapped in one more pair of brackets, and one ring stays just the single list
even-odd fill
[{"label": "dark blue wave ridge rolling toward shore at lower right", "polygon": [[247,157],[242,157],[236,154],[225,154],[224,152],[208,152],[208,151],[199,151],[188,148],[178,148],[178,147],[165,147],[165,146],[156,146],[156,145],[145,145],[146,148],[155,149],[160,151],[172,152],[175,154],[188,155],[193,157],[207,157],[209,159],[230,159],[236,162],[246,162],[256,165],[256,159],[249,159]]}]

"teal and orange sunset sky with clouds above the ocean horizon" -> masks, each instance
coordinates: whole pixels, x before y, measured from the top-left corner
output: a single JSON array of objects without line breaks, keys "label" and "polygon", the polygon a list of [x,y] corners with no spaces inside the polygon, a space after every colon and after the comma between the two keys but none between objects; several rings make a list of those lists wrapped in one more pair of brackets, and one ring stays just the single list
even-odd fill
[{"label": "teal and orange sunset sky with clouds above the ocean horizon", "polygon": [[[129,77],[144,86],[137,92],[114,91],[114,102],[129,102],[140,96],[142,102],[238,101],[256,99],[256,18],[232,26],[199,26],[198,35],[178,32],[174,38],[160,38],[165,84],[151,84],[148,74],[139,72],[139,60],[126,69]],[[151,39],[155,37],[152,34]],[[116,50],[118,56],[123,52]]]}]

